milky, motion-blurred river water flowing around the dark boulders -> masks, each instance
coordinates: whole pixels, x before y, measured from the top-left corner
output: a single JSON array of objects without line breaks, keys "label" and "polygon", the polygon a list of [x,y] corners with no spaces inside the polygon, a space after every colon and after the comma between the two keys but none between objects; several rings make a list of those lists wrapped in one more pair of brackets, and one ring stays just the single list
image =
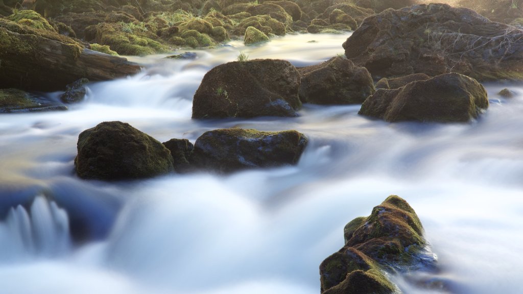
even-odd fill
[{"label": "milky, motion-blurred river water flowing around the dark boulders", "polygon": [[[423,279],[454,293],[520,293],[523,86],[486,85],[490,108],[464,124],[390,124],[358,116],[359,106],[313,105],[297,118],[190,119],[203,75],[240,51],[309,65],[343,53],[346,37],[138,59],[143,73],[89,85],[70,111],[0,116],[0,292],[318,294],[319,264],[342,247],[344,225],[397,194],[418,213],[440,268],[393,276],[404,293],[442,292],[410,282]],[[504,87],[517,96],[498,97]],[[295,167],[78,179],[77,136],[106,120],[162,142],[243,127],[297,129],[310,143]],[[42,194],[52,201],[34,200]],[[88,228],[88,241],[70,244],[68,219]]]}]

